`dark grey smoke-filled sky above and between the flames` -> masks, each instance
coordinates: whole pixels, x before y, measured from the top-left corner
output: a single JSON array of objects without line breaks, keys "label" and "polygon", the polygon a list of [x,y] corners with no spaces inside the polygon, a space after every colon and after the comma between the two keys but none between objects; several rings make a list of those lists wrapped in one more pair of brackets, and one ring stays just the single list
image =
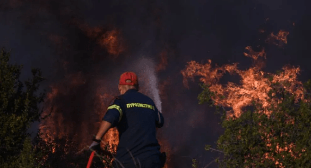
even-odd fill
[{"label": "dark grey smoke-filled sky above and between the flames", "polygon": [[[102,74],[116,82],[130,66],[129,59],[145,55],[158,63],[159,53],[167,50],[168,65],[157,74],[160,83],[169,81],[163,101],[166,127],[160,134],[174,151],[172,167],[190,167],[191,158],[199,158],[203,167],[218,156],[204,152],[204,144],[214,144],[222,133],[219,116],[197,104],[197,81],[184,88],[180,71],[190,60],[207,59],[218,65],[239,62],[246,69],[252,62],[243,55],[245,47],[260,45],[267,51],[264,71],[300,66],[305,81],[311,78],[309,7],[303,0],[1,0],[0,46],[12,49],[12,62],[24,64],[23,79],[30,77],[31,67],[41,68],[46,89],[65,75],[60,60],[69,62],[70,72]],[[81,29],[85,24],[121,30],[124,54],[111,61]],[[287,45],[264,42],[267,34],[281,29],[290,33]],[[50,35],[65,42],[55,45]],[[90,59],[94,55],[96,59]]]}]

